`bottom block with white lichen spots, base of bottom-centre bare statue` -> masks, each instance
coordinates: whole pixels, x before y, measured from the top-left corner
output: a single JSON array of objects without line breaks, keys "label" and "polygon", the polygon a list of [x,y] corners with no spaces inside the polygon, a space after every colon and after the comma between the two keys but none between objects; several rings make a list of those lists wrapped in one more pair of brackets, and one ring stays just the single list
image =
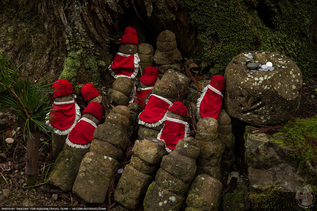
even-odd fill
[{"label": "bottom block with white lichen spots, base of bottom-centre bare statue", "polygon": [[184,198],[151,183],[144,198],[144,211],[172,210],[179,211]]}]

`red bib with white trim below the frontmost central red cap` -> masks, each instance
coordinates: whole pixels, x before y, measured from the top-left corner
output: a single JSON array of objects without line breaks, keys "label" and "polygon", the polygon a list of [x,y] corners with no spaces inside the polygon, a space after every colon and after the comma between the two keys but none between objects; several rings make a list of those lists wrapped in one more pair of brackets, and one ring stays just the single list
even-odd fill
[{"label": "red bib with white trim below the frontmost central red cap", "polygon": [[166,117],[158,139],[164,141],[167,148],[174,150],[178,141],[187,137],[187,130],[187,122]]}]

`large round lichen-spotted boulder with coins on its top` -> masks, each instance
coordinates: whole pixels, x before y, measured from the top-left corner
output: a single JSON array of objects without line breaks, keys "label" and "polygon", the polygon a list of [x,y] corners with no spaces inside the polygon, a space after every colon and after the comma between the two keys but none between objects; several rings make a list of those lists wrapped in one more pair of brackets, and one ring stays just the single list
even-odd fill
[{"label": "large round lichen-spotted boulder with coins on its top", "polygon": [[[247,56],[253,56],[248,59]],[[265,65],[271,62],[273,71],[252,72],[246,62]],[[288,57],[272,53],[251,51],[236,56],[227,66],[223,97],[227,113],[248,123],[277,124],[290,119],[299,108],[302,75]]]}]

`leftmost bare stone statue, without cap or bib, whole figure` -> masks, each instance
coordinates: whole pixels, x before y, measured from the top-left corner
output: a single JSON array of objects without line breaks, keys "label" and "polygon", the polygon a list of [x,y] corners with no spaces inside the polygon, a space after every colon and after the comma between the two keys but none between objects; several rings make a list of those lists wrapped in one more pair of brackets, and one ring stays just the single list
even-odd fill
[{"label": "leftmost bare stone statue, without cap or bib, whole figure", "polygon": [[113,108],[103,124],[94,131],[89,152],[82,159],[73,193],[85,202],[102,204],[114,173],[129,143],[127,128],[130,111],[126,106]]}]

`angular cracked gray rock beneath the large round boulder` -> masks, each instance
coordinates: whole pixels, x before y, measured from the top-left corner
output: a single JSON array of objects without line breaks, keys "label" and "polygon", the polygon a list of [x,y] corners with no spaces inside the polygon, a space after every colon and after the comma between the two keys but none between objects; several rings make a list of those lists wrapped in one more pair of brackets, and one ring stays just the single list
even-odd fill
[{"label": "angular cracked gray rock beneath the large round boulder", "polygon": [[250,185],[265,188],[274,184],[281,186],[283,191],[296,192],[294,187],[302,186],[307,177],[298,170],[297,162],[288,159],[295,149],[281,147],[272,139],[271,134],[247,134],[245,157]]}]

